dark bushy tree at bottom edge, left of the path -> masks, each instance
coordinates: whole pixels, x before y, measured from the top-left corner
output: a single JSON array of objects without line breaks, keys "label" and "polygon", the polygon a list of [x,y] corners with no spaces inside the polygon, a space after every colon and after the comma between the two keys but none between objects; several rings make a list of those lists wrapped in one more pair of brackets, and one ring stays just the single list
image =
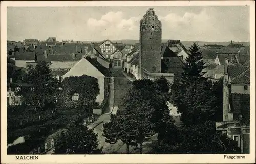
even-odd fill
[{"label": "dark bushy tree at bottom edge, left of the path", "polygon": [[77,120],[56,139],[54,154],[99,154],[97,135]]}]

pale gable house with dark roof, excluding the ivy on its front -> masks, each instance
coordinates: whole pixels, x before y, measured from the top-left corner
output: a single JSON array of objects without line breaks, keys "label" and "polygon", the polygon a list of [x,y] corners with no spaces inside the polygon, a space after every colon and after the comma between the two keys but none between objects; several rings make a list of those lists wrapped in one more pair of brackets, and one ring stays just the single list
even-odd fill
[{"label": "pale gable house with dark roof, excluding the ivy on its front", "polygon": [[108,95],[108,86],[105,84],[106,77],[109,77],[108,69],[98,63],[97,60],[85,57],[80,59],[65,75],[63,75],[63,79],[82,75],[88,75],[98,79],[100,93],[97,96],[96,102],[101,104]]}]

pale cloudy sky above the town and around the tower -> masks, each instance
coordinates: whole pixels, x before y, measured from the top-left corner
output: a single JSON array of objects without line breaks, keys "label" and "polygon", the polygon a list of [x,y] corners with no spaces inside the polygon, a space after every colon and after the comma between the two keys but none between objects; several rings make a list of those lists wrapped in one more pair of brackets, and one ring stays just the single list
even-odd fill
[{"label": "pale cloudy sky above the town and around the tower", "polygon": [[8,7],[7,39],[139,39],[139,21],[154,8],[162,39],[249,41],[249,6]]}]

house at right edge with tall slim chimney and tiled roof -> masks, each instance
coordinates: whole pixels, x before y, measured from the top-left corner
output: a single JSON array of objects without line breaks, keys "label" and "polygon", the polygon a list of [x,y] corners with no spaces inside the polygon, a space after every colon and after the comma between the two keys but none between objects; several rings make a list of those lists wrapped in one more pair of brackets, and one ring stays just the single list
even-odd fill
[{"label": "house at right edge with tall slim chimney and tiled roof", "polygon": [[229,65],[225,59],[223,80],[223,121],[216,129],[237,142],[241,153],[250,150],[250,68]]}]

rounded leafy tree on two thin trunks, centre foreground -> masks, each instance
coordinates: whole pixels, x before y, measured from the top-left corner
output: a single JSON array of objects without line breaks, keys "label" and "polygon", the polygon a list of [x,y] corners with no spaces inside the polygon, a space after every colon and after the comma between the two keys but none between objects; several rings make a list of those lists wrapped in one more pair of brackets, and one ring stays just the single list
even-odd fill
[{"label": "rounded leafy tree on two thin trunks, centre foreground", "polygon": [[154,124],[150,121],[153,108],[138,90],[131,89],[122,100],[116,116],[112,116],[111,121],[104,124],[106,142],[122,140],[127,145],[127,153],[129,145],[138,143],[142,154],[144,139],[153,132]]}]

